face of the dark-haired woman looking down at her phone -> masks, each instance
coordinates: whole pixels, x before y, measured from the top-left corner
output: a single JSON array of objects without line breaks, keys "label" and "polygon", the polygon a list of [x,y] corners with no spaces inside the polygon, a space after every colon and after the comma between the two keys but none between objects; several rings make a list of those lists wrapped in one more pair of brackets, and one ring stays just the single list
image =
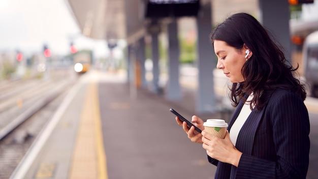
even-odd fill
[{"label": "face of the dark-haired woman looking down at her phone", "polygon": [[243,48],[238,50],[220,40],[214,40],[213,44],[217,56],[216,68],[222,69],[232,83],[244,81],[241,70],[246,62],[245,51],[248,49],[246,45],[244,44]]}]

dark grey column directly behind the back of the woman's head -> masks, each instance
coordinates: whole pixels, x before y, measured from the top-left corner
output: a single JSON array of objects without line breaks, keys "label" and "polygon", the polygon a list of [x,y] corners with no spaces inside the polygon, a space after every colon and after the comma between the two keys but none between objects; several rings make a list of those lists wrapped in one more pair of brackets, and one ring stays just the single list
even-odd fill
[{"label": "dark grey column directly behind the back of the woman's head", "polygon": [[289,28],[289,3],[288,1],[259,0],[260,21],[279,40],[285,48],[285,56],[291,59],[292,43]]}]

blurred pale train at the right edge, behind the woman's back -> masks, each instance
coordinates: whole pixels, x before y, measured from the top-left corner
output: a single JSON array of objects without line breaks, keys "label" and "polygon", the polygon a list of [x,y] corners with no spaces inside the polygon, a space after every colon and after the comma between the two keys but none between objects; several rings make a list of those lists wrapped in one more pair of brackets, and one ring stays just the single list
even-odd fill
[{"label": "blurred pale train at the right edge, behind the woman's back", "polygon": [[303,71],[310,94],[318,98],[318,31],[306,37],[303,46]]}]

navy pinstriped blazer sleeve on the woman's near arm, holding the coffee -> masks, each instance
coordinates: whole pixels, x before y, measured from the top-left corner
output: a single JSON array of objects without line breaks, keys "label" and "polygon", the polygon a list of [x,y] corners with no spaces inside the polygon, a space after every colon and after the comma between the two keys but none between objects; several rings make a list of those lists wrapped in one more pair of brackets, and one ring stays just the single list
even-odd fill
[{"label": "navy pinstriped blazer sleeve on the woman's near arm, holding the coffee", "polygon": [[307,108],[294,93],[278,93],[273,97],[264,120],[272,124],[276,161],[243,154],[237,178],[306,178],[310,148]]}]

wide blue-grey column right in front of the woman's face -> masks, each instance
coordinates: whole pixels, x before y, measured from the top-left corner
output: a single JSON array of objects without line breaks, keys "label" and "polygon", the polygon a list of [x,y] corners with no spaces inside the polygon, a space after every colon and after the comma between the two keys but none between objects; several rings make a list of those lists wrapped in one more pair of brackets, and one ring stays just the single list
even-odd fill
[{"label": "wide blue-grey column right in front of the woman's face", "polygon": [[200,113],[215,112],[213,69],[216,58],[209,35],[212,31],[211,4],[201,7],[198,24],[198,91],[196,110]]}]

